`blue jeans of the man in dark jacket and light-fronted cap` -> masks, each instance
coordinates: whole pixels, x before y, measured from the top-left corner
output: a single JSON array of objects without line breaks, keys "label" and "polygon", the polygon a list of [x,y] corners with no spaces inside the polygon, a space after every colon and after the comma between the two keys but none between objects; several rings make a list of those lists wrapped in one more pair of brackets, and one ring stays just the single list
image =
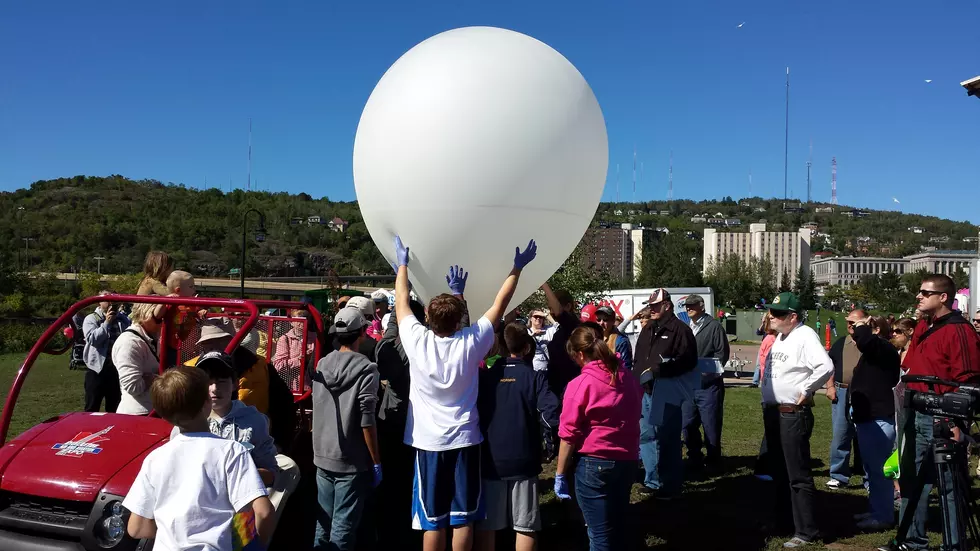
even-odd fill
[{"label": "blue jeans of the man in dark jacket and light-fronted cap", "polygon": [[653,396],[643,394],[640,417],[640,458],[643,460],[643,484],[674,496],[681,492],[684,463],[681,458],[681,406],[664,405],[663,422],[651,425],[649,419]]}]

